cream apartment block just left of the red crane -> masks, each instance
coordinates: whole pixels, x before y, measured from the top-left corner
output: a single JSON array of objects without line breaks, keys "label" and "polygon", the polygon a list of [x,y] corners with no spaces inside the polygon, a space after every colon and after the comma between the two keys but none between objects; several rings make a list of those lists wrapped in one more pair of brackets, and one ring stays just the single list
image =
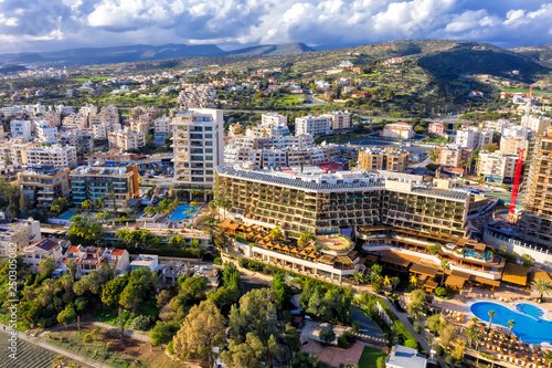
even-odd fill
[{"label": "cream apartment block just left of the red crane", "polygon": [[477,175],[485,181],[513,182],[518,155],[507,155],[501,151],[480,151],[477,162]]}]

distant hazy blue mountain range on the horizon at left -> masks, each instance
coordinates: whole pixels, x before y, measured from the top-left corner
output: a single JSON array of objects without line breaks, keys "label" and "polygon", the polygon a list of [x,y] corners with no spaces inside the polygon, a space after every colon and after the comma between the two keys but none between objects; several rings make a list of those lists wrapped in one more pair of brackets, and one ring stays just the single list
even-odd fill
[{"label": "distant hazy blue mountain range on the horizon at left", "polygon": [[0,64],[34,64],[39,66],[96,65],[151,60],[199,56],[272,55],[284,56],[314,51],[302,43],[257,45],[223,51],[214,44],[126,45],[113,48],[81,48],[49,52],[0,54]]}]

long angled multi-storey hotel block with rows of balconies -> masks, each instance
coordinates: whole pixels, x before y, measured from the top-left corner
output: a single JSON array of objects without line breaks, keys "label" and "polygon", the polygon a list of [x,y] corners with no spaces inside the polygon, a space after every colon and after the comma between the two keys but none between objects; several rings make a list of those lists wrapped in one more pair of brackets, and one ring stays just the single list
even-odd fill
[{"label": "long angled multi-storey hotel block with rows of balconies", "polygon": [[226,200],[230,213],[245,222],[280,225],[296,234],[388,224],[466,235],[467,192],[361,171],[279,172],[229,164],[216,170],[216,198]]}]

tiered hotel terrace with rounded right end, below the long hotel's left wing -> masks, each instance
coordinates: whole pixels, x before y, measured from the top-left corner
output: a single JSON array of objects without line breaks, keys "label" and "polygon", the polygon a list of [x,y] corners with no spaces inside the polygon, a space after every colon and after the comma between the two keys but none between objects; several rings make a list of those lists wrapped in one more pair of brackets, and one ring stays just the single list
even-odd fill
[{"label": "tiered hotel terrace with rounded right end, below the long hotel's left wing", "polygon": [[234,246],[246,257],[306,275],[327,276],[341,282],[364,265],[354,251],[354,243],[339,234],[317,235],[300,244],[291,240],[278,240],[270,229],[257,224],[243,225],[226,220],[219,224],[234,233]]}]

